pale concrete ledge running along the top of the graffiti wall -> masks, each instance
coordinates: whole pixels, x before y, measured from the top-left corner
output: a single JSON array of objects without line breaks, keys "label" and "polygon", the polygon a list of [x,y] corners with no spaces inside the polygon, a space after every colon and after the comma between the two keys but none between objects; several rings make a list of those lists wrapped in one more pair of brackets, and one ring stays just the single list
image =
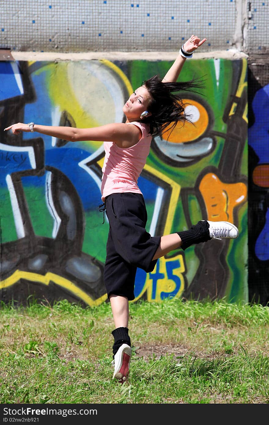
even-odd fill
[{"label": "pale concrete ledge running along the top of the graffiti wall", "polygon": [[[141,52],[82,52],[82,53],[57,53],[57,52],[32,52],[32,51],[11,51],[15,60],[27,61],[55,61],[55,60],[175,60],[178,51],[141,51]],[[248,55],[236,49],[212,51],[210,53],[198,53],[193,55],[193,59],[242,59]]]}]

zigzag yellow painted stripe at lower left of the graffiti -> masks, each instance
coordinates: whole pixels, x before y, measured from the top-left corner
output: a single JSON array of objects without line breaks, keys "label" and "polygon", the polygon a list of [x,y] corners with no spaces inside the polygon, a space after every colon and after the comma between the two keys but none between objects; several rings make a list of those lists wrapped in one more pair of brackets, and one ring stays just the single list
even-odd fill
[{"label": "zigzag yellow painted stripe at lower left of the graffiti", "polygon": [[80,298],[90,307],[99,306],[107,299],[107,294],[105,294],[102,295],[102,297],[93,300],[88,294],[86,294],[86,292],[82,291],[82,289],[78,288],[70,280],[50,272],[46,273],[45,275],[39,275],[38,273],[16,270],[11,276],[0,281],[0,289],[8,288],[9,286],[14,285],[14,283],[17,283],[20,279],[29,280],[30,282],[34,283],[42,283],[46,286],[48,286],[50,282],[54,282],[56,285],[67,289],[69,292],[71,292],[71,294],[75,295],[77,298]]}]

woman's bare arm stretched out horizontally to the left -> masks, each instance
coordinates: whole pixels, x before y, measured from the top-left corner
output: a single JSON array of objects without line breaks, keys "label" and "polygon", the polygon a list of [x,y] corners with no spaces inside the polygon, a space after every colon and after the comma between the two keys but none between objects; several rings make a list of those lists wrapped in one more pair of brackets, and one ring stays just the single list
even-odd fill
[{"label": "woman's bare arm stretched out horizontally to the left", "polygon": [[[18,122],[6,127],[4,131],[12,130],[13,134],[19,134],[22,131],[29,132],[28,124]],[[34,124],[34,131],[47,136],[57,137],[68,140],[69,142],[81,142],[95,140],[96,142],[115,142],[119,147],[130,147],[136,144],[141,133],[135,125],[124,123],[106,124],[100,127],[75,128],[75,127],[56,127],[50,125]]]}]

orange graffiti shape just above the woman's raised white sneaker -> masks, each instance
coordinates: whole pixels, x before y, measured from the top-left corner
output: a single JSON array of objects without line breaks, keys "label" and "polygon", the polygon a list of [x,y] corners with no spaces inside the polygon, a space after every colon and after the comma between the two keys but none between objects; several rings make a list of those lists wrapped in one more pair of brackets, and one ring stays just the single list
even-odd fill
[{"label": "orange graffiti shape just above the woman's raised white sneaker", "polygon": [[246,200],[244,183],[223,183],[214,173],[206,174],[199,185],[207,208],[207,218],[212,221],[233,223],[233,210]]}]

